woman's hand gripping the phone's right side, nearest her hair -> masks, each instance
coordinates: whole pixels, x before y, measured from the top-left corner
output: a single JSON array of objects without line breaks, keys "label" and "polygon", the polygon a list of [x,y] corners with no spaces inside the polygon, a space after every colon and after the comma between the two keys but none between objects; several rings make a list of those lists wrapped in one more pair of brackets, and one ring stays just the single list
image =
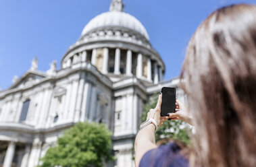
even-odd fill
[{"label": "woman's hand gripping the phone's right side, nearest her hair", "polygon": [[172,120],[181,120],[192,125],[192,116],[188,113],[188,108],[186,108],[185,104],[180,102],[178,99],[176,99],[176,103],[177,111],[174,113],[169,113],[169,118]]}]

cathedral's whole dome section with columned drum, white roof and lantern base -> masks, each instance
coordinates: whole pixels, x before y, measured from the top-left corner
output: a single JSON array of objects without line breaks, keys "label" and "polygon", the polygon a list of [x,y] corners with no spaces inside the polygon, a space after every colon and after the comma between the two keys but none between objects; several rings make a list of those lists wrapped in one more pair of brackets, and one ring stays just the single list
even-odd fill
[{"label": "cathedral's whole dome section with columned drum, white roof and lantern base", "polygon": [[90,71],[97,69],[112,81],[130,76],[147,84],[163,80],[165,65],[151,46],[147,30],[123,9],[122,0],[112,0],[109,11],[88,22],[80,38],[63,56],[61,67],[88,65],[95,68]]}]

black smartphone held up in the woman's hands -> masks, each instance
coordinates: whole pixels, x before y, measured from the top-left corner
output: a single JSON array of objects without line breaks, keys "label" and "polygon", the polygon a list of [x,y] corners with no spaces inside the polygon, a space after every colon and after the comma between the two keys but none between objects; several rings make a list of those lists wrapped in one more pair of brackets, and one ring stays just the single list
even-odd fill
[{"label": "black smartphone held up in the woman's hands", "polygon": [[176,106],[176,89],[163,87],[161,89],[162,104],[161,104],[161,116],[168,116],[168,113],[175,112]]}]

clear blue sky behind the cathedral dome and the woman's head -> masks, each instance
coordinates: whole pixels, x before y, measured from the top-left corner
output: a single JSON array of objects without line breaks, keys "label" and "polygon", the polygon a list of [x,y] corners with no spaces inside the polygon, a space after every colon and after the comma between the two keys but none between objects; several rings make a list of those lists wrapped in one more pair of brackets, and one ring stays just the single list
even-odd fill
[{"label": "clear blue sky behind the cathedral dome and the woman's head", "polygon": [[[108,11],[111,0],[0,0],[0,87],[11,86],[29,68],[34,56],[39,69],[66,53],[84,26]],[[151,44],[166,66],[165,79],[176,77],[186,44],[197,26],[218,7],[255,0],[124,0],[124,11],[143,23]]]}]

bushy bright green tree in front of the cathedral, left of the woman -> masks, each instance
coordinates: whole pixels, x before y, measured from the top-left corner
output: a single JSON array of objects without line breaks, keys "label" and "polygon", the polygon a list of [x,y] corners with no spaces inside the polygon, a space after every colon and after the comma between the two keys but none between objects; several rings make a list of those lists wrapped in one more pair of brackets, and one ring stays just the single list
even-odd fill
[{"label": "bushy bright green tree in front of the cathedral, left of the woman", "polygon": [[103,166],[103,161],[113,160],[111,149],[111,133],[105,125],[77,123],[48,149],[41,166]]}]

